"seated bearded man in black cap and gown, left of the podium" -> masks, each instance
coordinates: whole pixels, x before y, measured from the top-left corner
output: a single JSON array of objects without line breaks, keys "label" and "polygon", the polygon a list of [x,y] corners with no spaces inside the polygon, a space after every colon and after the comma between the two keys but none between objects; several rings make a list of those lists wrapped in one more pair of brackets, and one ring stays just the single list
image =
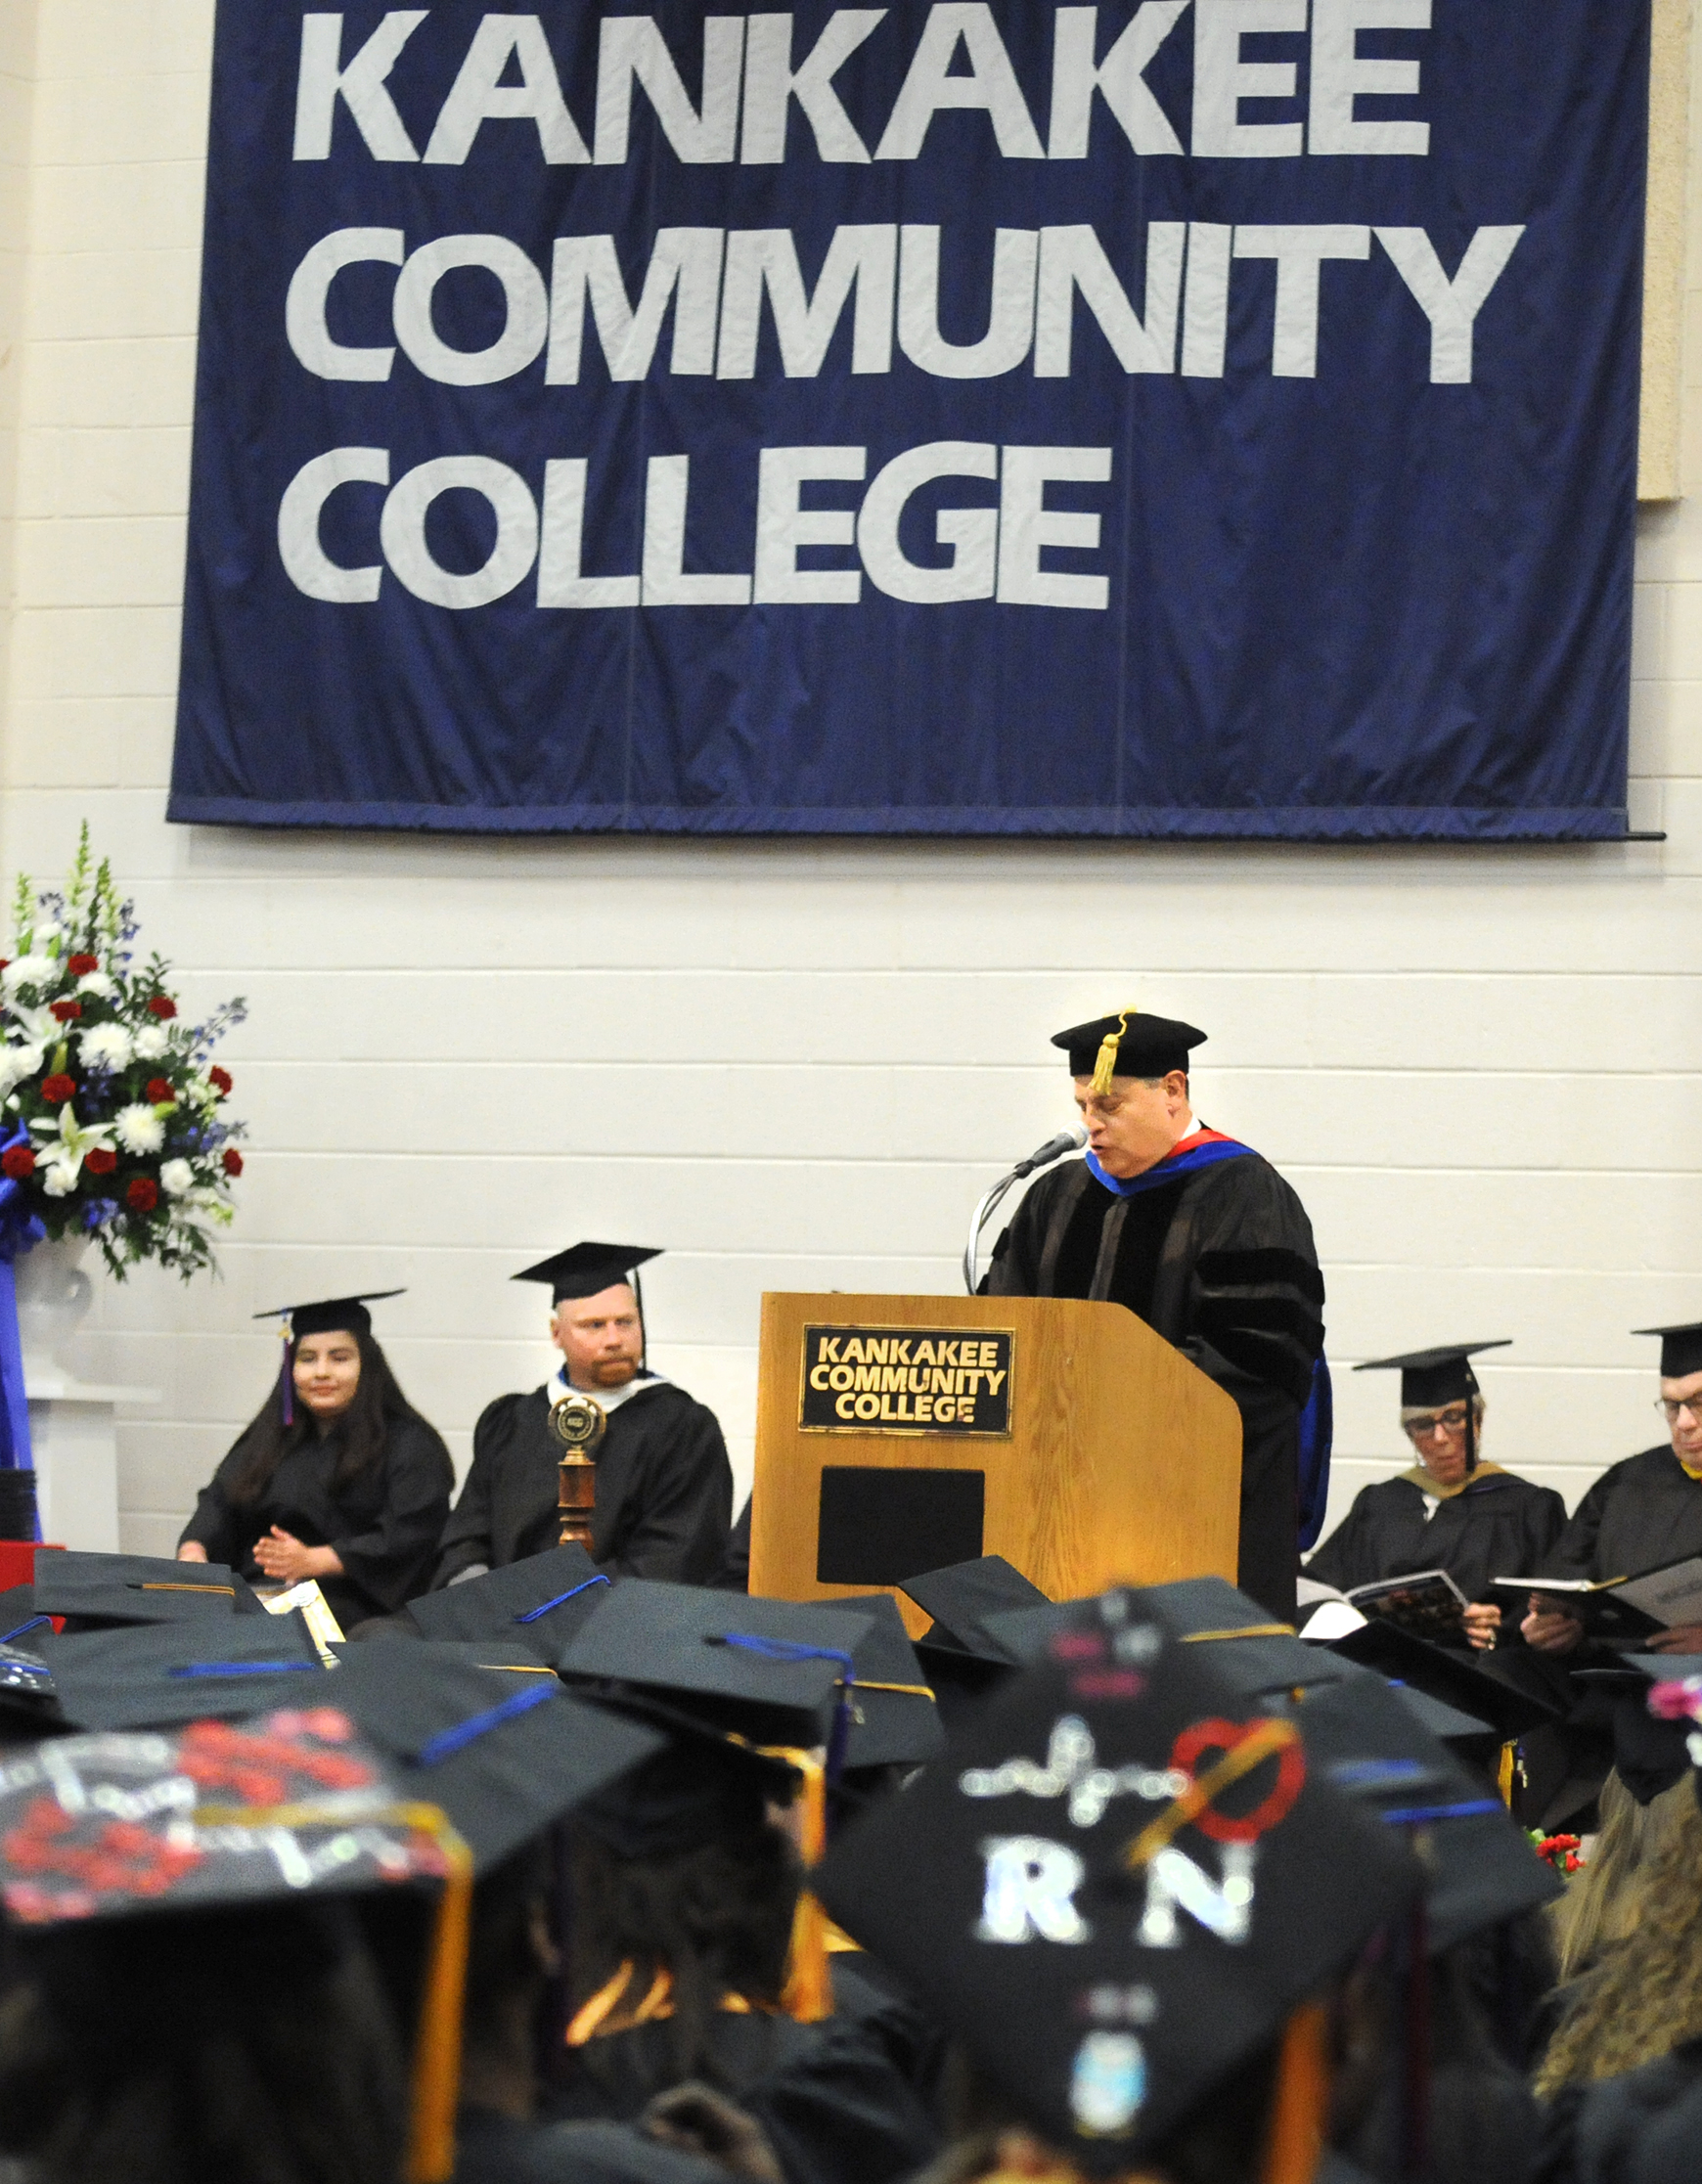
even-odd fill
[{"label": "seated bearded man in black cap and gown, left of the podium", "polygon": [[614,1577],[708,1583],[732,1518],[732,1468],[712,1411],[645,1369],[631,1245],[579,1243],[513,1275],[548,1282],[562,1367],[524,1396],[498,1396],[472,1431],[472,1470],[448,1527],[433,1590],[542,1555],[559,1540],[562,1441],[551,1406],[570,1387],[607,1415],[596,1446],[592,1555]]}]

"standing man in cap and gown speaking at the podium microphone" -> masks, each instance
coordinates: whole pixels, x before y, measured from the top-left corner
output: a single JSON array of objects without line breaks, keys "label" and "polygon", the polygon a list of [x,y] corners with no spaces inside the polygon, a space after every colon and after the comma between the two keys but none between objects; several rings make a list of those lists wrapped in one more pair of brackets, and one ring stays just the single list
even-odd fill
[{"label": "standing man in cap and gown speaking at the podium microphone", "polygon": [[1088,1151],[1029,1190],[983,1291],[1125,1304],[1234,1398],[1237,1583],[1291,1623],[1300,1422],[1322,1378],[1324,1278],[1293,1188],[1252,1147],[1195,1120],[1189,1053],[1204,1037],[1134,1009],[1053,1037]]}]

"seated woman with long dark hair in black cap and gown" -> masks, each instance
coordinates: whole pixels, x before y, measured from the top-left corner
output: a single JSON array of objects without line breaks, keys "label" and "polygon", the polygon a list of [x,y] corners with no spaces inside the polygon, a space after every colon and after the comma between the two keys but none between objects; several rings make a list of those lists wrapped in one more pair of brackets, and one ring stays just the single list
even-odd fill
[{"label": "seated woman with long dark hair in black cap and gown", "polygon": [[[400,1297],[400,1289],[380,1295]],[[297,1304],[284,1372],[201,1489],[179,1562],[227,1562],[251,1583],[317,1579],[343,1629],[424,1592],[454,1465],[371,1334],[369,1297]]]}]

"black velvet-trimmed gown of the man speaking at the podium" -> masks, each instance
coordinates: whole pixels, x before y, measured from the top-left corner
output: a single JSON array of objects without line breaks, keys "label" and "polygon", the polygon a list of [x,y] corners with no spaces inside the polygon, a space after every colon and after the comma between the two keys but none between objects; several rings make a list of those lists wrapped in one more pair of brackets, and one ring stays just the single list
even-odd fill
[{"label": "black velvet-trimmed gown of the man speaking at the podium", "polygon": [[1237,1583],[1293,1621],[1298,1424],[1324,1350],[1307,1210],[1258,1153],[1125,1199],[1084,1160],[1051,1168],[998,1238],[992,1297],[1125,1304],[1241,1411]]}]

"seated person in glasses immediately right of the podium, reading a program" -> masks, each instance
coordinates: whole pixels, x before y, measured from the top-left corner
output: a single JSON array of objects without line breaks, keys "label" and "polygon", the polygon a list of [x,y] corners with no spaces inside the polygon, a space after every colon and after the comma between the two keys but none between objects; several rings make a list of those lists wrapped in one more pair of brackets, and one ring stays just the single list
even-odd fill
[{"label": "seated person in glasses immediately right of the podium, reading a program", "polygon": [[1357,1367],[1400,1374],[1400,1428],[1418,1461],[1398,1479],[1361,1487],[1307,1564],[1307,1577],[1339,1592],[1446,1570],[1470,1603],[1466,1638],[1479,1651],[1501,1634],[1492,1579],[1547,1568],[1567,1524],[1567,1505],[1553,1487],[1481,1457],[1486,1404],[1470,1361],[1479,1350],[1505,1348],[1505,1341],[1449,1343]]}]

